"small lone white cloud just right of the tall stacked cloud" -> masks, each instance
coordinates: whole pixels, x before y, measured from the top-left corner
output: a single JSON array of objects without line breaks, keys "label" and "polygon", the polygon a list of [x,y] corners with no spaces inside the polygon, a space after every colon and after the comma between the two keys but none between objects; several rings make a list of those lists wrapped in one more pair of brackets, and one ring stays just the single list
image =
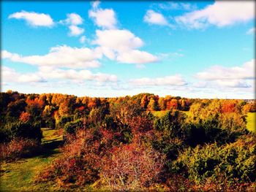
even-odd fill
[{"label": "small lone white cloud just right of the tall stacked cloud", "polygon": [[159,12],[154,12],[154,10],[148,10],[144,16],[144,21],[149,24],[155,24],[159,26],[167,26],[168,22],[164,15]]}]

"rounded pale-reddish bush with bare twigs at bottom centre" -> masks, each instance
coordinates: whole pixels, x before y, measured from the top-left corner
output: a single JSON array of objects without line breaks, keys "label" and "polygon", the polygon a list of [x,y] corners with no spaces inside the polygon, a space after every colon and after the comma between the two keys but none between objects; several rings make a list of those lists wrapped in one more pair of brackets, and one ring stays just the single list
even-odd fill
[{"label": "rounded pale-reddish bush with bare twigs at bottom centre", "polygon": [[111,190],[141,191],[157,181],[164,157],[136,142],[113,147],[101,164],[102,179]]}]

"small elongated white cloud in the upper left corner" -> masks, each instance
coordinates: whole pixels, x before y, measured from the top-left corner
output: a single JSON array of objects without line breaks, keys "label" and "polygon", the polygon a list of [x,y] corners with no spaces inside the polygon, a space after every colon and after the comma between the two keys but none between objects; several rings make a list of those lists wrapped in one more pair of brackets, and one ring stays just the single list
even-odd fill
[{"label": "small elongated white cloud in the upper left corner", "polygon": [[26,20],[26,22],[30,26],[53,26],[53,19],[50,17],[50,15],[44,14],[44,13],[37,13],[37,12],[15,12],[9,15],[8,18],[15,18],[15,19],[23,19]]}]

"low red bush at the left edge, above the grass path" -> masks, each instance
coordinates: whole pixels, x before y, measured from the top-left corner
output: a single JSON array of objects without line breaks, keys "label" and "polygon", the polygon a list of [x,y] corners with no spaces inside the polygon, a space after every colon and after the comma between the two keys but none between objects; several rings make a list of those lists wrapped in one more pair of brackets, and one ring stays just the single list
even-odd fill
[{"label": "low red bush at the left edge, above the grass path", "polygon": [[34,154],[39,143],[32,139],[15,138],[0,145],[0,160],[15,160]]}]

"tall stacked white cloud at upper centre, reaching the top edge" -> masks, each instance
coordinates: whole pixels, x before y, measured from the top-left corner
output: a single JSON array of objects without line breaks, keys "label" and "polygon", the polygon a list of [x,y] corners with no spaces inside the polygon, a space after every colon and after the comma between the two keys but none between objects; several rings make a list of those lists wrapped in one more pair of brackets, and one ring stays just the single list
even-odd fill
[{"label": "tall stacked white cloud at upper centre, reaching the top edge", "polygon": [[143,46],[143,41],[128,30],[117,29],[116,13],[113,9],[99,8],[99,1],[94,1],[89,17],[102,30],[96,31],[96,39],[92,42],[99,45],[96,50],[111,60],[124,64],[146,64],[158,61],[157,56],[137,50]]}]

